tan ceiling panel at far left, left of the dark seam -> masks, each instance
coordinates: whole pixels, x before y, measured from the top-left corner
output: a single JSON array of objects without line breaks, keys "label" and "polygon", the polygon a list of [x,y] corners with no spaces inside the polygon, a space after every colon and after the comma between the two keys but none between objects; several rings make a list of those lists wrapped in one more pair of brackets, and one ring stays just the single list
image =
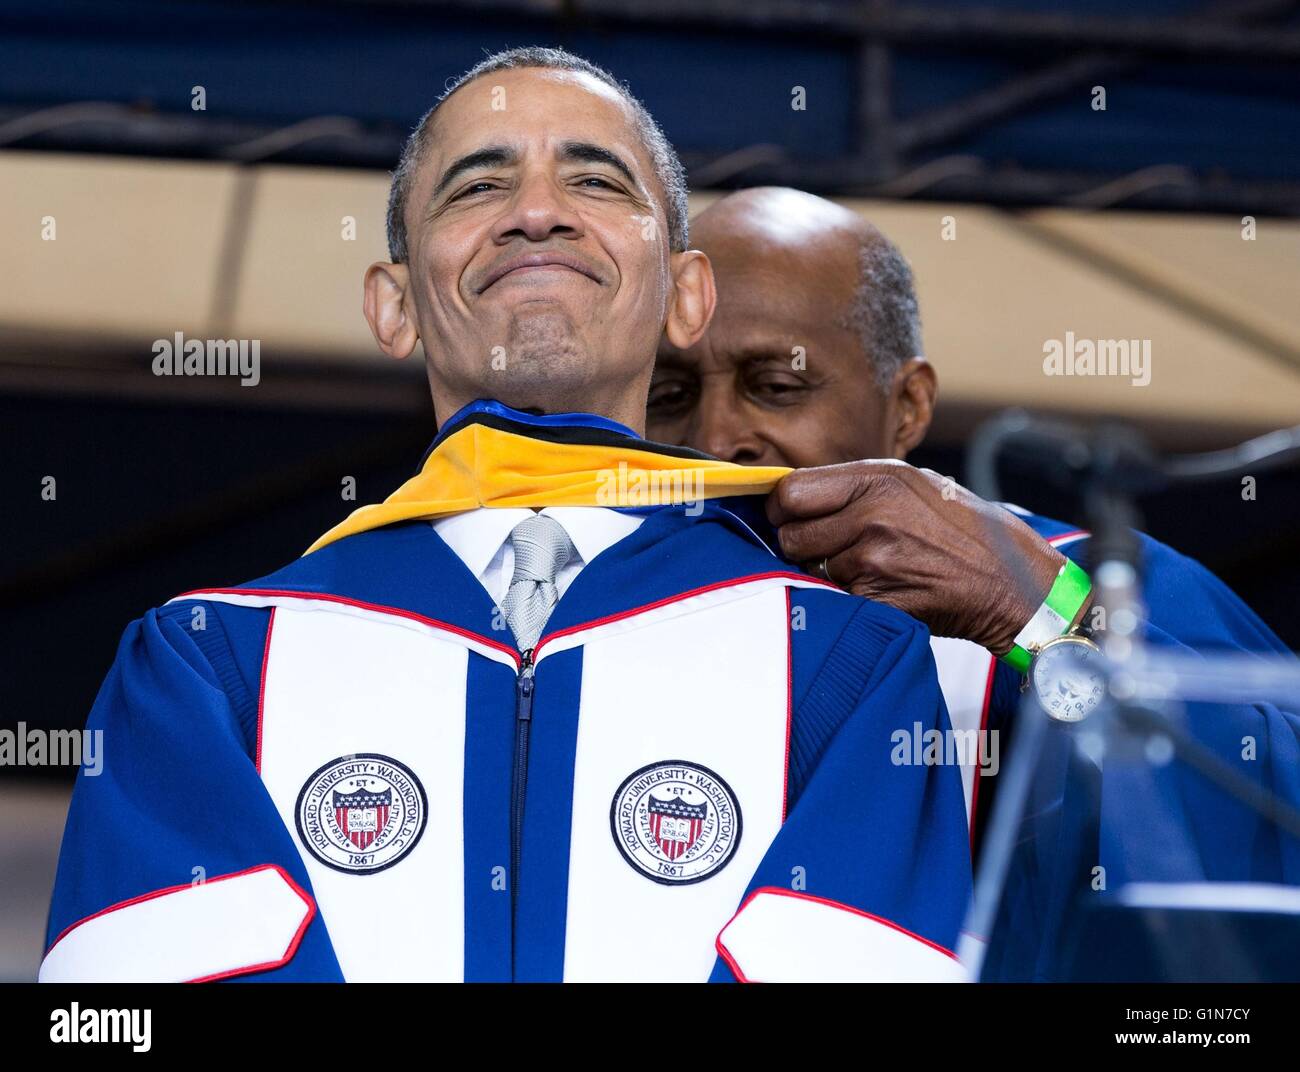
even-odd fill
[{"label": "tan ceiling panel at far left, left of the dark seam", "polygon": [[204,335],[233,175],[214,164],[0,152],[0,322],[146,342]]}]

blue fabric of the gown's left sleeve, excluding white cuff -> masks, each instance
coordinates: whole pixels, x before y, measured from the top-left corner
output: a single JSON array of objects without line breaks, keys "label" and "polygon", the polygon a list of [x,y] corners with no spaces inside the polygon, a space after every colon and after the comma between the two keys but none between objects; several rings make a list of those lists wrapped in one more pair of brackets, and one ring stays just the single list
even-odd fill
[{"label": "blue fabric of the gown's left sleeve, excluding white cuff", "polygon": [[[77,777],[47,950],[113,906],[268,864],[309,895],[302,858],[255,767],[255,700],[250,726],[240,659],[229,652],[214,665],[204,652],[229,651],[222,620],[208,609],[202,639],[185,604],[151,611],[126,629],[87,721],[101,734],[103,764],[98,773],[83,765]],[[265,612],[242,612],[237,632],[250,643],[259,613],[264,635]],[[341,980],[320,913],[286,964],[240,977]]]}]

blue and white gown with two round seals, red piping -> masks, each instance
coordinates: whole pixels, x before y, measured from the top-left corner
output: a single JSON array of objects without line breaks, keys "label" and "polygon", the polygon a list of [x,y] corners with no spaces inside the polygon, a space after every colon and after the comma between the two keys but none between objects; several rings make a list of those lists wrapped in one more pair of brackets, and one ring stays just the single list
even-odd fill
[{"label": "blue and white gown with two round seals, red piping", "polygon": [[927,630],[719,502],[656,507],[532,654],[426,521],[126,630],[44,980],[952,978]]}]

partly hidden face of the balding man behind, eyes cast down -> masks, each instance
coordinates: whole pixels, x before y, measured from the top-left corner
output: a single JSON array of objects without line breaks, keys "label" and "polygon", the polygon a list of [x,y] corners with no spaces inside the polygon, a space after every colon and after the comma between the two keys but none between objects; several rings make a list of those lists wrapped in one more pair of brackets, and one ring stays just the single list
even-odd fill
[{"label": "partly hidden face of the balding man behind, eyes cast down", "polygon": [[796,251],[714,230],[697,239],[714,265],[718,307],[689,350],[660,343],[647,438],[744,465],[890,456],[885,398],[861,337],[844,324],[855,243]]}]

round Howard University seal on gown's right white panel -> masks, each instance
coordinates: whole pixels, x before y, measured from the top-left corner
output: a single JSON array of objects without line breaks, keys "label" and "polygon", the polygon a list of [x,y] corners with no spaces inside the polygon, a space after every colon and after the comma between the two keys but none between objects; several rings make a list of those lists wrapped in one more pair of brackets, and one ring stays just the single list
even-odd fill
[{"label": "round Howard University seal on gown's right white panel", "polygon": [[646,878],[684,886],[727,867],[740,845],[740,804],[707,767],[668,759],[619,786],[610,829],[623,859]]}]

